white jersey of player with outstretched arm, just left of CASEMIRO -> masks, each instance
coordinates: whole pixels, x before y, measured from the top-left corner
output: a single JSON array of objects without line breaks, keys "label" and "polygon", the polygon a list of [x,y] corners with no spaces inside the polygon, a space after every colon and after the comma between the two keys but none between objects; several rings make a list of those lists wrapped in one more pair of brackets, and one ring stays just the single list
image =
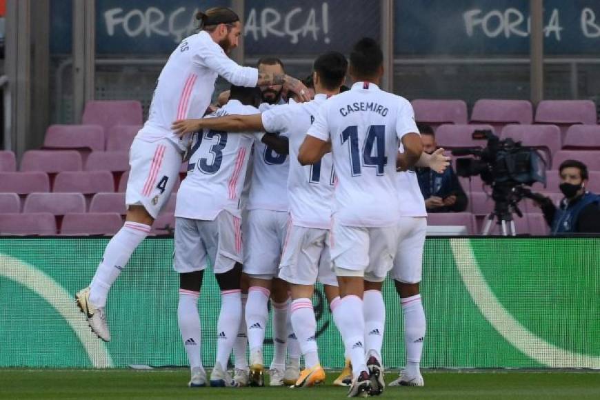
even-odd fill
[{"label": "white jersey of player with outstretched arm, just left of CASEMIRO", "polygon": [[290,140],[288,199],[292,223],[306,228],[329,229],[333,202],[334,172],[331,154],[313,166],[301,166],[298,152],[308,128],[327,96],[317,94],[308,103],[293,103],[263,112],[268,132],[281,132]]}]

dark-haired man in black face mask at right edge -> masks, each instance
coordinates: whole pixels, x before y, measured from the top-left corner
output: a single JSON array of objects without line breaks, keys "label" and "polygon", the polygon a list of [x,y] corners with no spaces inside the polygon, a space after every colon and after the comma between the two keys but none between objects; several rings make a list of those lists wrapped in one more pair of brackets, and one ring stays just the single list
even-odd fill
[{"label": "dark-haired man in black face mask at right edge", "polygon": [[565,198],[557,208],[548,197],[536,194],[534,203],[543,212],[552,234],[600,233],[600,196],[586,190],[588,167],[581,161],[566,160],[559,167]]}]

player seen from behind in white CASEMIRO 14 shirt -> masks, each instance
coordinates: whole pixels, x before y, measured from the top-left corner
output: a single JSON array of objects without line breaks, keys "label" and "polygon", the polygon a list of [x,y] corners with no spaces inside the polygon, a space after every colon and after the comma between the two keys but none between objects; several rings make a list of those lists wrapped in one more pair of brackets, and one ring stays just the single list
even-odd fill
[{"label": "player seen from behind in white CASEMIRO 14 shirt", "polygon": [[349,397],[383,391],[381,284],[399,239],[399,141],[408,166],[422,152],[410,103],[379,89],[382,74],[381,48],[361,39],[350,54],[352,88],[321,106],[298,156],[301,164],[314,164],[331,148],[339,179],[330,242],[341,296],[337,323],[354,377]]}]

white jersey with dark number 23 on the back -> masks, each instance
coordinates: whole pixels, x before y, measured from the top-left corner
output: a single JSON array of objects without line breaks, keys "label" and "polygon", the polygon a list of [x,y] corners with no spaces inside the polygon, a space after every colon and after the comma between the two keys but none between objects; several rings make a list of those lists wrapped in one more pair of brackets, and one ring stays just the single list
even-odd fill
[{"label": "white jersey with dark number 23 on the back", "polygon": [[[207,118],[258,112],[257,108],[230,100]],[[195,133],[188,174],[177,192],[175,217],[212,221],[221,210],[241,217],[240,197],[252,143],[263,134],[208,129]]]}]

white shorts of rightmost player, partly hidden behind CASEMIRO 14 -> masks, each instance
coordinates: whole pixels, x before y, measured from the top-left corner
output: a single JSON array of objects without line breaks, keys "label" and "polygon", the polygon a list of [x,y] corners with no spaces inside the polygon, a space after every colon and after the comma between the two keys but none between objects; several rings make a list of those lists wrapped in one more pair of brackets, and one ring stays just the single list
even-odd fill
[{"label": "white shorts of rightmost player, partly hidden behind CASEMIRO 14", "polygon": [[423,276],[423,247],[427,234],[424,217],[401,217],[398,251],[390,277],[402,283],[419,283]]}]

